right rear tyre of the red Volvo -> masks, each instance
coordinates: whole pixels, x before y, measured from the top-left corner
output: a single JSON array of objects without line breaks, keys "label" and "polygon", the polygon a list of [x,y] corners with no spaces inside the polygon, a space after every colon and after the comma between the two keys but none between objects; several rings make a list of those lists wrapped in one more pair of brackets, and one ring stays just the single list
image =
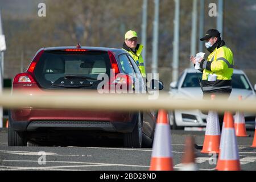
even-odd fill
[{"label": "right rear tyre of the red Volvo", "polygon": [[133,129],[133,132],[126,133],[123,137],[125,147],[142,147],[142,117],[141,113],[138,113],[136,117],[136,124]]}]

